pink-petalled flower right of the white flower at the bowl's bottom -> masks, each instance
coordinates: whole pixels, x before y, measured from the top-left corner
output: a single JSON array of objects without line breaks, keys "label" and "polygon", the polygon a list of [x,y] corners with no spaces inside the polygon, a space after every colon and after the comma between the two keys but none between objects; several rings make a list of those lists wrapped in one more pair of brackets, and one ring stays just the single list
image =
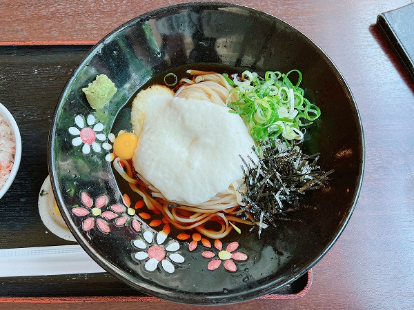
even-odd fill
[{"label": "pink-petalled flower right of the white flower at the bowl's bottom", "polygon": [[204,251],[201,253],[201,256],[205,258],[215,258],[208,262],[207,268],[208,270],[215,270],[220,267],[221,261],[224,261],[224,268],[227,271],[235,272],[237,271],[237,265],[235,261],[244,261],[247,260],[248,256],[242,252],[235,252],[239,247],[239,242],[234,241],[227,245],[226,249],[223,249],[223,244],[220,240],[215,240],[214,247],[219,250],[217,256],[215,258],[216,253],[213,251]]}]

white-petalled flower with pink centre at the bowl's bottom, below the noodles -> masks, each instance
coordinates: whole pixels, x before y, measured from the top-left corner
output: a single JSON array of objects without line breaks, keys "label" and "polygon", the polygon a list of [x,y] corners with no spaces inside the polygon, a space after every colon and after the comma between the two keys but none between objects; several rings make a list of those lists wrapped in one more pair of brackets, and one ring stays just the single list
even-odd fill
[{"label": "white-petalled flower with pink centre at the bowl's bottom, below the noodles", "polygon": [[144,268],[148,271],[157,269],[161,262],[161,267],[168,273],[175,271],[175,266],[172,262],[180,264],[184,262],[184,257],[178,253],[179,243],[177,241],[170,242],[164,245],[167,234],[164,231],[159,231],[154,238],[151,231],[145,231],[143,234],[144,240],[134,240],[133,245],[142,251],[135,253],[137,260],[146,260]]}]

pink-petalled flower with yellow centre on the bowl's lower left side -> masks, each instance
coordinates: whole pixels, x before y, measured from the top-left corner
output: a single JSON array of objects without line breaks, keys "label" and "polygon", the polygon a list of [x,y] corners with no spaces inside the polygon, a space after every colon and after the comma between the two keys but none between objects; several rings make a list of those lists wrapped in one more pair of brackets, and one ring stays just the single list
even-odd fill
[{"label": "pink-petalled flower with yellow centre on the bowl's lower left side", "polygon": [[92,198],[86,193],[81,192],[81,203],[83,207],[75,205],[72,207],[72,214],[75,216],[86,217],[82,222],[83,231],[89,231],[93,227],[98,227],[103,234],[108,234],[110,228],[107,220],[113,220],[118,214],[112,211],[102,211],[102,208],[108,204],[108,197],[101,195],[95,200],[95,207]]}]

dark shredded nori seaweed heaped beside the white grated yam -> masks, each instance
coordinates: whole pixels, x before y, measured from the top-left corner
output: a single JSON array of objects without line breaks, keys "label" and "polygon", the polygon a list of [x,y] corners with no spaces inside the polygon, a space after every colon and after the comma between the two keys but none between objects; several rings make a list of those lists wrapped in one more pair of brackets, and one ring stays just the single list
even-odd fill
[{"label": "dark shredded nori seaweed heaped beside the white grated yam", "polygon": [[245,167],[242,195],[243,203],[255,222],[275,226],[275,218],[299,207],[299,197],[309,189],[324,187],[333,169],[324,172],[317,165],[319,154],[306,155],[298,145],[286,146],[275,139],[261,143],[257,163],[252,158],[242,158]]}]

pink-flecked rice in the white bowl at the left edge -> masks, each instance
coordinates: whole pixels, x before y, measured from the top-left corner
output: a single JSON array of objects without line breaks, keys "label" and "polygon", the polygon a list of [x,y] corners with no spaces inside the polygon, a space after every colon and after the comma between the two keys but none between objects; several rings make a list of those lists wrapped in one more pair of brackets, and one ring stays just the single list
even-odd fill
[{"label": "pink-flecked rice in the white bowl at the left edge", "polygon": [[0,189],[6,183],[12,171],[16,143],[12,127],[0,114]]}]

